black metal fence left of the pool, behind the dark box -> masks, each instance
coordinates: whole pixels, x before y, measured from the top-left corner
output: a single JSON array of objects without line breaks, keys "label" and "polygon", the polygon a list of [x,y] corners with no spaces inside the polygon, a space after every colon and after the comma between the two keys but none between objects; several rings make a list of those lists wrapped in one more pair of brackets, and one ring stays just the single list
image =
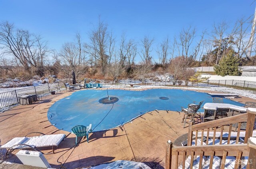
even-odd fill
[{"label": "black metal fence left of the pool, behind the dark box", "polygon": [[60,90],[65,89],[64,85],[52,83],[0,93],[0,109],[19,103],[19,97],[22,95],[36,94],[38,97],[43,97],[45,95],[49,95],[52,90],[56,91],[57,87],[61,87]]}]

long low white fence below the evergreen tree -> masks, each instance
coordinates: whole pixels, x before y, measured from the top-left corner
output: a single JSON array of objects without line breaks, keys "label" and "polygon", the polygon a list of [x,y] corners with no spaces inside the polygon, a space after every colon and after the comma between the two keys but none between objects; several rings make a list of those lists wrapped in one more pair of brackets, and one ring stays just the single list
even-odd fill
[{"label": "long low white fence below the evergreen tree", "polygon": [[256,77],[248,76],[218,76],[218,75],[201,75],[201,77],[209,77],[209,80],[246,80],[256,82]]}]

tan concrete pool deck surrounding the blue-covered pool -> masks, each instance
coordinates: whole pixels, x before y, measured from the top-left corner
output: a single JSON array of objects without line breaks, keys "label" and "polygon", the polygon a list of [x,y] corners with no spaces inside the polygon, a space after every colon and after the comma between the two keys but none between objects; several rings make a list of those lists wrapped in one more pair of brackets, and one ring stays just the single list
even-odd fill
[{"label": "tan concrete pool deck surrounding the blue-covered pool", "polygon": [[[77,147],[73,147],[76,139],[75,135],[67,131],[58,130],[47,119],[48,108],[54,102],[72,94],[72,92],[75,91],[49,95],[32,105],[18,105],[1,113],[1,145],[14,137],[22,137],[31,132],[45,134],[64,133],[67,137],[60,143],[55,154],[44,155],[53,168],[60,167],[60,163],[57,160],[61,163],[65,162],[64,167],[68,169],[116,160],[150,162],[146,164],[162,168],[165,165],[166,141],[169,139],[175,141],[175,139],[188,132],[188,128],[183,128],[183,123],[181,123],[183,113],[151,111],[134,119],[132,123],[124,124],[122,127],[110,129],[105,133],[92,133],[89,135],[89,143],[83,138]],[[216,93],[216,91],[214,92]],[[254,101],[254,99],[247,97],[232,100],[241,103]],[[199,122],[196,119],[196,123]],[[31,136],[34,135],[31,134]],[[70,149],[71,147],[73,148]],[[52,151],[51,147],[41,148],[40,150],[44,153]],[[9,156],[8,161],[21,163],[14,155],[16,152],[14,151]]]}]

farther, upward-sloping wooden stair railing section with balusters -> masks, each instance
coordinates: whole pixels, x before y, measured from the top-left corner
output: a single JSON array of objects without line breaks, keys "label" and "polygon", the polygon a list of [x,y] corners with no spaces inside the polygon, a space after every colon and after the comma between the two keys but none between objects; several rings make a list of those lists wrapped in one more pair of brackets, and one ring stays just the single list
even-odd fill
[{"label": "farther, upward-sloping wooden stair railing section with balusters", "polygon": [[[204,132],[207,133],[206,145],[208,145],[210,129],[213,129],[212,144],[214,145],[215,139],[216,139],[217,127],[221,130],[219,139],[220,139],[220,144],[222,144],[224,126],[227,126],[227,125],[229,126],[228,142],[227,142],[229,144],[230,136],[231,136],[231,132],[232,132],[232,125],[238,123],[238,130],[237,130],[237,136],[236,136],[236,144],[237,144],[239,141],[240,128],[241,128],[242,122],[247,122],[245,137],[244,137],[244,143],[247,143],[248,138],[252,136],[252,132],[254,129],[255,115],[256,115],[256,112],[247,111],[247,113],[243,113],[240,115],[234,115],[232,117],[226,117],[226,118],[222,118],[222,119],[207,121],[207,122],[199,123],[199,124],[195,124],[195,125],[192,125],[192,121],[190,121],[189,125],[188,125],[188,146],[192,145],[193,132],[195,132],[195,145],[197,145],[198,139],[203,140]],[[198,138],[198,132],[202,132],[200,138]],[[202,144],[203,144],[203,141],[201,141],[201,145]]]}]

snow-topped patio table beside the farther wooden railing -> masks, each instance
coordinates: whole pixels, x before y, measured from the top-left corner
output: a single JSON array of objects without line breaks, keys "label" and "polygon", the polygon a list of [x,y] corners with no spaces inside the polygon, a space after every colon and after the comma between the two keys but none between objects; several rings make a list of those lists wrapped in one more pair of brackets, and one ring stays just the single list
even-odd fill
[{"label": "snow-topped patio table beside the farther wooden railing", "polygon": [[211,121],[218,118],[218,115],[223,117],[233,116],[241,113],[246,113],[247,108],[238,105],[232,105],[228,103],[205,103],[204,104],[204,119],[205,121]]}]

